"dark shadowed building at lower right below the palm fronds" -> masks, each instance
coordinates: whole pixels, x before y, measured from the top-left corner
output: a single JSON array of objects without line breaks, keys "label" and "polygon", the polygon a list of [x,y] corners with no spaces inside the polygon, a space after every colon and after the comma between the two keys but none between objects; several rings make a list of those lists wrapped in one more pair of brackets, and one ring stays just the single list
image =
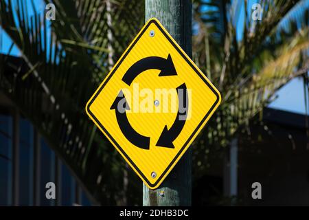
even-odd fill
[{"label": "dark shadowed building at lower right below the palm fronds", "polygon": [[[262,124],[234,140],[221,157],[212,157],[207,175],[196,181],[196,205],[309,206],[309,142],[306,116],[264,109]],[[253,199],[252,184],[262,186]]]}]

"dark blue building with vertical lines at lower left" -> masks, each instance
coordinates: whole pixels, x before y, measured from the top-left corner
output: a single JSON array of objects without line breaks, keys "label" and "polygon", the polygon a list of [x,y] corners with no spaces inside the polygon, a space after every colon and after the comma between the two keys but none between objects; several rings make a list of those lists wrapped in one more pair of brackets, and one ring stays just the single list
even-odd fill
[{"label": "dark blue building with vertical lines at lower left", "polygon": [[[45,197],[48,182],[56,184],[56,199]],[[91,202],[32,123],[0,92],[0,206],[73,204]]]}]

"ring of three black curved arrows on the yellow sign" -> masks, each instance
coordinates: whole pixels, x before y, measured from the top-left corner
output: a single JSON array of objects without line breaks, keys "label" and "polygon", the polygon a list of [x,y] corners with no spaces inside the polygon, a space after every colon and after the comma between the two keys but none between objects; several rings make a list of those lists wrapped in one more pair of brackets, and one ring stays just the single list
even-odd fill
[{"label": "ring of three black curved arrows on the yellow sign", "polygon": [[[175,76],[177,75],[174,63],[172,62],[172,57],[168,54],[168,58],[162,58],[159,56],[149,56],[142,58],[133,64],[126,74],[122,77],[122,81],[127,85],[131,85],[133,80],[142,72],[148,69],[160,69],[161,72],[159,76]],[[187,110],[188,108],[188,96],[187,96],[187,87],[185,83],[176,88],[179,100],[179,110],[176,115],[176,120],[168,129],[168,126],[165,125],[159,140],[157,141],[156,146],[166,147],[166,148],[175,148],[173,142],[181,133],[183,126],[185,126],[185,120],[187,119]],[[184,95],[185,93],[185,95]],[[183,111],[180,110],[180,103],[182,103]],[[139,148],[149,150],[150,137],[143,136],[133,129],[128,122],[126,115],[126,110],[130,110],[128,102],[122,90],[119,91],[118,96],[115,98],[115,101],[111,105],[111,109],[115,109],[117,122],[119,124],[120,130],[132,144],[138,146]]]}]

